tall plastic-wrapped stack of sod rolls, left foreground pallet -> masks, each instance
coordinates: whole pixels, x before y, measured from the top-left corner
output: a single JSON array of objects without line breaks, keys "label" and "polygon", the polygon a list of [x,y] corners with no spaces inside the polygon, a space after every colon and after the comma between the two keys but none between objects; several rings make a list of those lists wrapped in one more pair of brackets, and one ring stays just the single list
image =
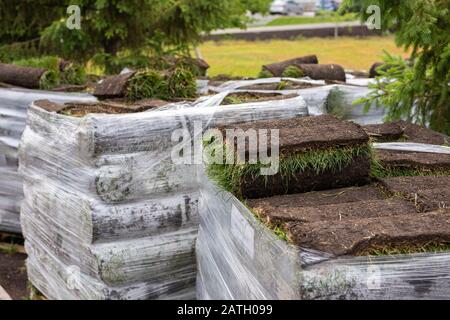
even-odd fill
[{"label": "tall plastic-wrapped stack of sod rolls, left foreground pallet", "polygon": [[217,107],[224,97],[146,112],[34,103],[20,150],[33,285],[51,299],[194,298],[197,169],[173,161],[179,138],[198,127],[201,134],[209,126],[307,114],[298,97]]}]

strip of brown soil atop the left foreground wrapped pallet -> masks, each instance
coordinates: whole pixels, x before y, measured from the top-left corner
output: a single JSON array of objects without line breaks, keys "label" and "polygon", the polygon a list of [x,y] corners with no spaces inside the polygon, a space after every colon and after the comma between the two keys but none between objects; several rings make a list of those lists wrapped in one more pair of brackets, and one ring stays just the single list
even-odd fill
[{"label": "strip of brown soil atop the left foreground wrapped pallet", "polygon": [[50,102],[48,100],[39,100],[35,104],[49,112],[58,112],[60,114],[83,117],[90,113],[122,114],[143,112],[146,110],[158,108],[167,104],[166,101],[159,99],[145,99],[133,104],[123,104],[115,102],[95,102],[95,103],[66,103],[64,105]]}]

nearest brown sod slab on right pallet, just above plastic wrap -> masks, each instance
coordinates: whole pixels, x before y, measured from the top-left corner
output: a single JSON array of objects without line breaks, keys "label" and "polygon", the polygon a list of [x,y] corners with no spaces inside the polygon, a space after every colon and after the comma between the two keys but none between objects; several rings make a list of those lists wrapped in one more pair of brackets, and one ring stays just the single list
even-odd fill
[{"label": "nearest brown sod slab on right pallet, just above plastic wrap", "polygon": [[288,237],[303,248],[334,255],[364,255],[377,248],[417,248],[450,244],[450,214],[432,212],[333,223],[288,223]]}]

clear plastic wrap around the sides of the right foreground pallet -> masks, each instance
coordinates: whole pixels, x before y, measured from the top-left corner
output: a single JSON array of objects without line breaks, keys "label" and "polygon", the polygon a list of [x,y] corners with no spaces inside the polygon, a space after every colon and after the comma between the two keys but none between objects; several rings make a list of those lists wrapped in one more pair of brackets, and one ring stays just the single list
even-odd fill
[{"label": "clear plastic wrap around the sides of the right foreground pallet", "polygon": [[450,299],[450,253],[334,257],[280,240],[199,174],[198,299]]}]

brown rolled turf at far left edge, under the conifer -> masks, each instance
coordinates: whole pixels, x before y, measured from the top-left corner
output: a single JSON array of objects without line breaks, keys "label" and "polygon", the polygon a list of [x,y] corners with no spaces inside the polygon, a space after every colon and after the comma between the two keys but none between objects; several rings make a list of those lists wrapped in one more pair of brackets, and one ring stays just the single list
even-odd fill
[{"label": "brown rolled turf at far left edge, under the conifer", "polygon": [[57,76],[44,68],[0,63],[0,82],[28,89],[47,89],[57,82]]}]

